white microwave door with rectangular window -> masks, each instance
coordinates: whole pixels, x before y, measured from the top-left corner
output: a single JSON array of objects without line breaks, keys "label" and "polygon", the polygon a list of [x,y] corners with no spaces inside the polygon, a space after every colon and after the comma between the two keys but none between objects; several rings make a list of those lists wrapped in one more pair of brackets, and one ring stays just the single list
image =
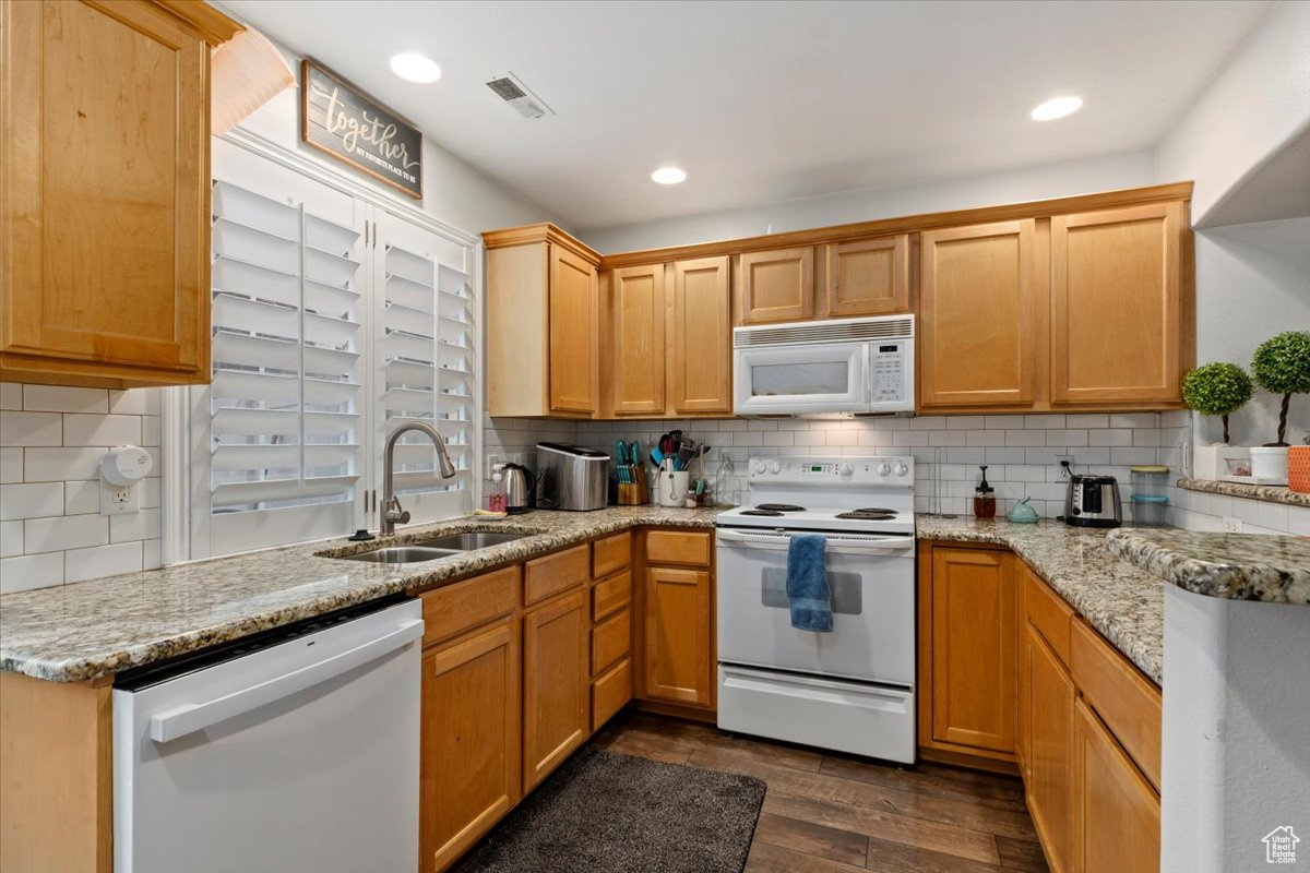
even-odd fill
[{"label": "white microwave door with rectangular window", "polygon": [[732,369],[738,415],[867,412],[869,343],[739,347]]}]

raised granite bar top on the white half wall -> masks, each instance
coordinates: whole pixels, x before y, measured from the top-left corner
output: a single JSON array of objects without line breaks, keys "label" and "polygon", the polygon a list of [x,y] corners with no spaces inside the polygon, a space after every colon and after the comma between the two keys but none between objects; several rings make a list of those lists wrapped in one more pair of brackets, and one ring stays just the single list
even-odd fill
[{"label": "raised granite bar top on the white half wall", "polygon": [[1269,534],[1123,529],[1110,551],[1193,594],[1310,603],[1310,539]]}]

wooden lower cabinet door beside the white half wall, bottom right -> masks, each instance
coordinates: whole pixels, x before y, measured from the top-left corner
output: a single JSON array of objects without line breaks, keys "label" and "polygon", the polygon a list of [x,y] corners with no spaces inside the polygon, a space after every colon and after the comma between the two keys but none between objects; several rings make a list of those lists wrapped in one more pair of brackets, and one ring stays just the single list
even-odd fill
[{"label": "wooden lower cabinet door beside the white half wall, bottom right", "polygon": [[1159,870],[1159,794],[1083,700],[1073,747],[1074,873]]}]

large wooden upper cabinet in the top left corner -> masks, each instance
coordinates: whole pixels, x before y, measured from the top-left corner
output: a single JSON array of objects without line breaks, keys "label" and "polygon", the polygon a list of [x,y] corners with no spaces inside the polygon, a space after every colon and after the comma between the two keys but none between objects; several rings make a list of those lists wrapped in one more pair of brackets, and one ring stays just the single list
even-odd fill
[{"label": "large wooden upper cabinet in the top left corner", "polygon": [[210,47],[241,27],[187,5],[0,4],[0,378],[210,380]]}]

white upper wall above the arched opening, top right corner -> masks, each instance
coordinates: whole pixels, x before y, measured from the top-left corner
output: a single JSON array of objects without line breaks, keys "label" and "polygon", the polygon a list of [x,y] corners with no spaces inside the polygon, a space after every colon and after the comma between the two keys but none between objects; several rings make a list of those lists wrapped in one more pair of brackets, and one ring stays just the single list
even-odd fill
[{"label": "white upper wall above the arched opening, top right corner", "polygon": [[1282,0],[1155,152],[1159,178],[1195,179],[1192,221],[1310,126],[1310,3]]}]

